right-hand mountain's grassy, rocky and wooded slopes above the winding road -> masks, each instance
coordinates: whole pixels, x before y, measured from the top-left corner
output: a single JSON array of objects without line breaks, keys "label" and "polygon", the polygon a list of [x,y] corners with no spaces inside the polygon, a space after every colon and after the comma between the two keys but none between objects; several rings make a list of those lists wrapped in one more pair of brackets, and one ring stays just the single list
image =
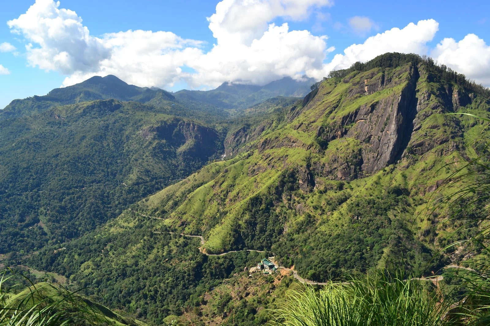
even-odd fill
[{"label": "right-hand mountain's grassy, rocky and wooded slopes above the winding road", "polygon": [[354,70],[324,80],[286,124],[214,163],[216,173],[196,173],[139,210],[203,235],[208,253],[272,249],[308,279],[390,263],[434,269],[444,216],[420,211],[483,130],[447,113],[488,108],[424,62]]}]

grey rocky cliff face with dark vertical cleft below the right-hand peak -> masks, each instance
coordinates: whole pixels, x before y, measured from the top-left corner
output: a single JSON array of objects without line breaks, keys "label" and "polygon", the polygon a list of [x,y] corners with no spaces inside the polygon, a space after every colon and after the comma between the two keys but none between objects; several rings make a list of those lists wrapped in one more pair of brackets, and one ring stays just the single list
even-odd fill
[{"label": "grey rocky cliff face with dark vertical cleft below the right-hand peak", "polygon": [[[360,148],[349,155],[336,154],[328,164],[317,163],[317,173],[335,180],[353,180],[406,157],[407,148],[421,155],[461,137],[455,118],[446,117],[442,125],[427,125],[426,121],[435,113],[449,113],[471,104],[474,95],[451,86],[430,89],[428,81],[433,78],[423,66],[413,64],[394,72],[373,70],[356,78],[343,78],[342,82],[348,83],[343,101],[360,102],[362,97],[376,93],[382,96],[319,124],[315,136],[322,149],[328,151],[329,142],[340,139],[358,140]],[[329,93],[328,85],[324,85],[305,97],[307,103],[302,112],[321,109],[325,113],[323,102]],[[340,102],[328,104],[329,110],[342,107]],[[448,151],[456,149],[458,144],[452,142]]]}]

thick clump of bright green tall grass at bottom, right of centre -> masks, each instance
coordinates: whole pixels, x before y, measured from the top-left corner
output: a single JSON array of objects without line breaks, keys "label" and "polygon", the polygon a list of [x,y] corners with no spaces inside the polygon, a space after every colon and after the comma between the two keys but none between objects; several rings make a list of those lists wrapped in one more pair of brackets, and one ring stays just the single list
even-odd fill
[{"label": "thick clump of bright green tall grass at bottom, right of centre", "polygon": [[272,324],[287,326],[439,326],[451,302],[441,300],[428,280],[376,270],[332,282],[320,291],[306,286],[288,293],[272,314]]}]

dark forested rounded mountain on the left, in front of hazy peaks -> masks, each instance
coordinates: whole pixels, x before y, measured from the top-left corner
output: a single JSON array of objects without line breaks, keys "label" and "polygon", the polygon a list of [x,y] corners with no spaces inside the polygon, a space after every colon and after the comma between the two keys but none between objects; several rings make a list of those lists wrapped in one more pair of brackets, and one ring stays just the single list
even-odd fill
[{"label": "dark forested rounded mountain on the left, in front of hazy peaks", "polygon": [[0,254],[65,242],[222,152],[211,127],[138,102],[0,120]]}]

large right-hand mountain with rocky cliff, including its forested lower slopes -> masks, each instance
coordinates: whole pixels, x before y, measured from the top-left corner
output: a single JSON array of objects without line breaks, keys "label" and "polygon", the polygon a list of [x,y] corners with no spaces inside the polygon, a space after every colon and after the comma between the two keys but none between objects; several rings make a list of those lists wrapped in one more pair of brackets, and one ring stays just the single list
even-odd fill
[{"label": "large right-hand mountain with rocky cliff, including its forested lower slopes", "polygon": [[[489,136],[479,120],[450,114],[488,117],[489,91],[430,59],[399,53],[335,71],[317,86],[292,105],[228,126],[225,160],[27,263],[95,284],[89,291],[105,304],[141,309],[155,323],[184,314],[259,325],[264,318],[254,320],[255,313],[295,282],[282,273],[248,276],[272,253],[320,282],[373,267],[427,275],[474,253],[471,244],[442,249],[485,205],[427,213],[426,203],[454,189],[440,186]],[[246,279],[257,287],[244,290]]]}]

